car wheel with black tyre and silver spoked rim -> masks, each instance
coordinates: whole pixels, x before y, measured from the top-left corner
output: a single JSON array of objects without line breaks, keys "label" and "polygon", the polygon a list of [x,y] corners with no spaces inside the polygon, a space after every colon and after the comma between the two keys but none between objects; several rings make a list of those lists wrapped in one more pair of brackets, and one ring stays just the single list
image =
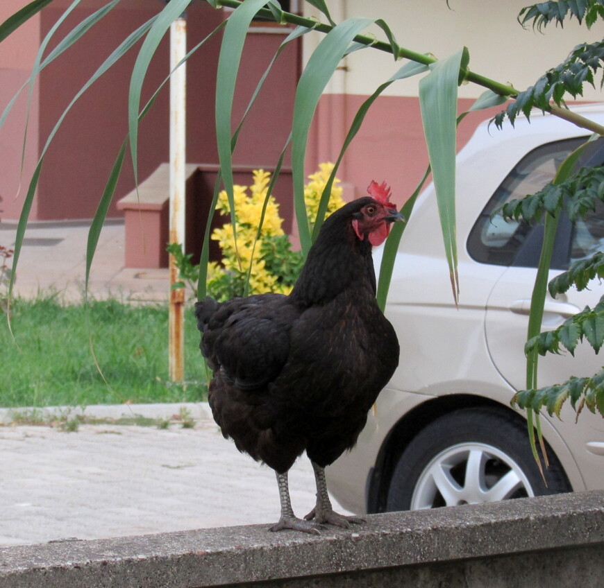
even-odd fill
[{"label": "car wheel with black tyre and silver spoked rim", "polygon": [[544,483],[526,424],[493,408],[455,410],[431,422],[394,468],[386,510],[417,510],[572,490],[548,450]]}]

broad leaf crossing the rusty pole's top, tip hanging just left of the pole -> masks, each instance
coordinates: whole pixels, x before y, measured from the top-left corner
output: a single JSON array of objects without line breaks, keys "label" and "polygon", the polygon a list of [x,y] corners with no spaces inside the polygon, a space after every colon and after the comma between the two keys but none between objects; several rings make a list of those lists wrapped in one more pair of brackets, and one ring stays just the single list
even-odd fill
[{"label": "broad leaf crossing the rusty pole's top, tip hanging just left of the pole", "polygon": [[165,8],[157,15],[153,26],[147,33],[145,40],[137,55],[134,69],[130,80],[128,92],[128,133],[132,165],[134,170],[134,181],[138,189],[138,115],[140,112],[140,98],[142,84],[149,69],[151,58],[155,55],[158,45],[165,37],[166,31],[172,22],[185,12],[192,0],[170,0]]}]

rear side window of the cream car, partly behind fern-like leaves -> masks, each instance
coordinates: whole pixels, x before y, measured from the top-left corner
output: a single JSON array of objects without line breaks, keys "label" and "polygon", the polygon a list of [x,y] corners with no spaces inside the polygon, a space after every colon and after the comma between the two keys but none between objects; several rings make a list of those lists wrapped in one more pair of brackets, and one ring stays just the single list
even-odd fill
[{"label": "rear side window of the cream car, partly behind fern-like leaves", "polygon": [[[576,137],[539,146],[525,155],[512,168],[472,227],[467,245],[468,252],[473,259],[492,265],[514,265],[514,261],[517,261],[517,254],[528,243],[528,237],[535,227],[523,221],[506,222],[501,214],[496,214],[491,218],[492,211],[504,202],[523,198],[542,189],[545,184],[553,180],[557,168],[571,151],[585,143],[586,139],[587,137]],[[588,236],[587,232],[591,236]],[[596,236],[596,234],[600,236]],[[594,246],[594,239],[601,237],[604,237],[604,225],[601,227],[600,233],[596,230],[593,232],[589,229],[582,232],[579,230],[576,234],[576,255],[581,254],[579,242],[585,243],[585,248],[589,249]],[[587,241],[592,245],[587,244]],[[538,246],[540,248],[540,244]],[[523,257],[528,261],[521,265],[536,267],[535,260],[538,259],[538,256],[527,254]]]}]

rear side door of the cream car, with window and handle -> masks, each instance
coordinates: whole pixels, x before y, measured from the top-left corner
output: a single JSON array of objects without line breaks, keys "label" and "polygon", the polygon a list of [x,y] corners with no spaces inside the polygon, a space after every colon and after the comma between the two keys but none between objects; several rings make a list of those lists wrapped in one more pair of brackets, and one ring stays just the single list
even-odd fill
[{"label": "rear side door of the cream car, with window and handle", "polygon": [[[485,339],[489,355],[501,376],[517,390],[526,388],[526,358],[523,348],[527,338],[530,297],[535,282],[536,266],[542,242],[542,226],[530,227],[522,223],[502,223],[501,218],[491,218],[498,203],[519,198],[540,189],[543,180],[553,179],[558,162],[575,148],[575,140],[556,141],[537,148],[519,162],[510,176],[501,184],[489,205],[473,227],[469,239],[469,251],[483,261],[503,260],[507,268],[501,274],[487,301],[485,315]],[[594,148],[592,158],[601,158],[602,148]],[[543,182],[545,183],[545,182]],[[493,200],[496,200],[494,202]],[[485,216],[487,214],[487,216]],[[558,275],[577,259],[590,257],[604,250],[604,205],[598,202],[596,209],[573,225],[562,215],[559,222],[552,269],[549,279]],[[507,257],[506,257],[507,256]],[[480,261],[479,259],[479,261]],[[604,285],[597,280],[589,288],[579,292],[572,288],[567,293],[552,298],[547,295],[542,330],[559,327],[569,316],[585,308],[595,306],[604,295]],[[539,357],[538,385],[550,386],[562,383],[571,375],[591,376],[601,370],[604,359],[594,353],[587,343],[580,343],[574,356],[569,352]],[[562,410],[562,420],[551,420],[562,438],[567,440],[583,472],[587,488],[601,483],[598,475],[604,465],[604,420],[600,415],[583,411],[580,424],[571,406]]]}]

